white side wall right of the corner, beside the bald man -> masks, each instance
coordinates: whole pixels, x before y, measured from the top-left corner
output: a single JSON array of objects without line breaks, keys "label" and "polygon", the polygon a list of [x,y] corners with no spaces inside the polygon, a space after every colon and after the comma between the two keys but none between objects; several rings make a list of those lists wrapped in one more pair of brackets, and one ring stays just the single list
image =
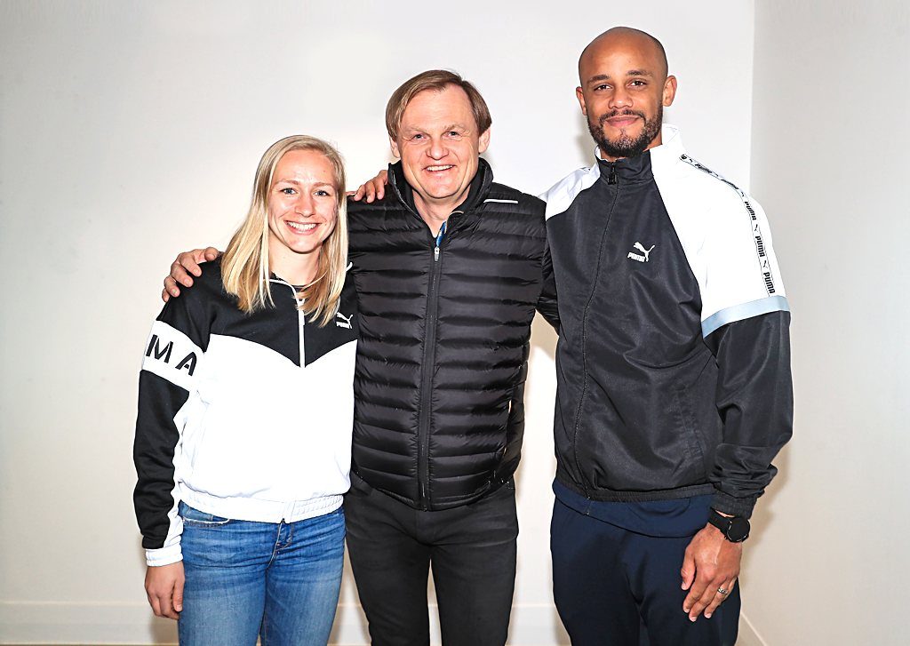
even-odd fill
[{"label": "white side wall right of the corner, beside the bald man", "polygon": [[748,543],[749,617],[774,646],[906,644],[910,10],[755,5],[753,192],[793,308],[796,421]]}]

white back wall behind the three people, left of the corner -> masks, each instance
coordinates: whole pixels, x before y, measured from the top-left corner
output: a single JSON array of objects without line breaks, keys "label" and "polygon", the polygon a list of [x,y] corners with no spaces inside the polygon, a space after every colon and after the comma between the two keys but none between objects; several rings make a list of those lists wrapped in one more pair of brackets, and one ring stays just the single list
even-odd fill
[{"label": "white back wall behind the three people, left of the corner", "polygon": [[[171,259],[225,243],[271,142],[328,137],[349,177],[371,177],[388,159],[391,91],[451,67],[490,103],[497,177],[541,191],[590,158],[575,62],[622,24],[666,45],[680,78],[668,120],[693,153],[747,184],[751,0],[0,2],[11,292],[0,313],[0,641],[173,639],[147,609],[130,498],[142,344]],[[565,641],[548,554],[554,338],[539,324],[534,338],[515,644]],[[346,580],[338,641],[366,641],[356,602]]]}]

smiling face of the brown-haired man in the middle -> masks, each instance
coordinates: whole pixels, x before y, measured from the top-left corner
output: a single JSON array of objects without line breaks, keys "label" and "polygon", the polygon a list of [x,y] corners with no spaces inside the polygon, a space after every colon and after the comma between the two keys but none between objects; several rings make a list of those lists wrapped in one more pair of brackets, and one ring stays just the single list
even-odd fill
[{"label": "smiling face of the brown-haired man in the middle", "polygon": [[470,99],[458,86],[424,90],[405,108],[398,136],[389,141],[425,220],[428,211],[448,217],[467,197],[480,153],[490,144],[490,129],[478,130]]}]

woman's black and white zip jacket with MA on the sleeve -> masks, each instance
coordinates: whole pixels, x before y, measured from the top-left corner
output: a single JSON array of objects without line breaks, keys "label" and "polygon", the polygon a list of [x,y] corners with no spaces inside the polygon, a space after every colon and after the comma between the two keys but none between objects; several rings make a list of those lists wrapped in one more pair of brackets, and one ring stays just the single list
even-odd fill
[{"label": "woman's black and white zip jacket with MA on the sleeve", "polygon": [[274,308],[245,314],[206,263],[172,298],[139,376],[134,500],[148,565],[181,560],[177,503],[235,520],[295,522],[339,508],[349,489],[357,300],[319,328],[297,290],[271,280]]}]

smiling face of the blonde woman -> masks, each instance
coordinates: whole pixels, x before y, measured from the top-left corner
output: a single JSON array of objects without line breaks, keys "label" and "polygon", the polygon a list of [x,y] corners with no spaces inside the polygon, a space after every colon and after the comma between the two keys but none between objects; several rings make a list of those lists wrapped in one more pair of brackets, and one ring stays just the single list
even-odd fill
[{"label": "smiling face of the blonde woman", "polygon": [[338,221],[335,185],[335,169],[319,151],[290,150],[278,161],[268,188],[268,254],[269,268],[282,278],[299,275],[292,266],[315,270]]}]

